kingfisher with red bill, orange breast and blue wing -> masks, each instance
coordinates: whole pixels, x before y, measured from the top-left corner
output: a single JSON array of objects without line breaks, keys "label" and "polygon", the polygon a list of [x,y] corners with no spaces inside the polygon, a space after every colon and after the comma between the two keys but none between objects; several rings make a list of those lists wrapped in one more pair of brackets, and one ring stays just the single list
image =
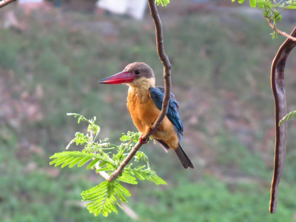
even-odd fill
[{"label": "kingfisher with red bill, orange breast and blue wing", "polygon": [[169,149],[176,152],[184,168],[194,168],[180,145],[183,125],[179,116],[179,103],[173,94],[170,95],[168,113],[162,123],[154,132],[151,130],[152,124],[160,114],[165,89],[155,86],[155,76],[149,65],[144,62],[128,64],[122,72],[104,78],[99,83],[127,84],[129,88],[126,106],[134,125],[141,133],[139,142],[146,143],[142,136],[150,131],[150,137],[157,141],[165,152]]}]

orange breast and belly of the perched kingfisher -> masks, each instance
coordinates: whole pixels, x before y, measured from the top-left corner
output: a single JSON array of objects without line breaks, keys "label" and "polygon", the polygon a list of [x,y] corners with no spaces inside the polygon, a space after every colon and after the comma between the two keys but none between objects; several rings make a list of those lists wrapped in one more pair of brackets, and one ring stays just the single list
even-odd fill
[{"label": "orange breast and belly of the perched kingfisher", "polygon": [[[140,133],[146,133],[157,119],[160,110],[148,96],[148,89],[129,89],[127,107],[134,125]],[[178,147],[178,136],[170,120],[165,117],[157,131],[151,135],[153,139],[163,140],[172,149]]]}]

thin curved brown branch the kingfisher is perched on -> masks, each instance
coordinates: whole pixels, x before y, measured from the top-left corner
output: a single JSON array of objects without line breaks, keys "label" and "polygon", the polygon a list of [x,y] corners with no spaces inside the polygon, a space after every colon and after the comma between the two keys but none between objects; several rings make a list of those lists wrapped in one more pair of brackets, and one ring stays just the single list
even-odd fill
[{"label": "thin curved brown branch the kingfisher is perched on", "polygon": [[[163,119],[165,118],[165,115],[168,112],[168,105],[169,105],[169,99],[170,99],[170,91],[171,91],[171,82],[170,82],[170,61],[168,59],[168,56],[165,54],[165,50],[163,47],[163,29],[160,21],[160,17],[157,12],[157,7],[154,2],[154,0],[147,0],[151,16],[153,18],[153,22],[155,25],[155,35],[156,35],[156,47],[157,47],[157,54],[158,57],[160,58],[161,63],[163,64],[163,78],[165,82],[165,95],[163,97],[163,105],[161,107],[161,112],[157,119],[155,120],[155,123],[152,125],[151,129],[154,131],[157,129]],[[145,141],[149,138],[151,135],[150,132],[145,133],[145,135],[142,136],[142,140]],[[136,152],[140,149],[142,144],[140,142],[137,142],[133,149],[128,153],[126,158],[120,163],[119,167],[107,178],[105,178],[107,181],[112,181],[114,180],[122,171],[123,168],[126,166],[126,164],[129,163],[131,158],[136,154]],[[100,173],[102,176],[102,174]]]}]

